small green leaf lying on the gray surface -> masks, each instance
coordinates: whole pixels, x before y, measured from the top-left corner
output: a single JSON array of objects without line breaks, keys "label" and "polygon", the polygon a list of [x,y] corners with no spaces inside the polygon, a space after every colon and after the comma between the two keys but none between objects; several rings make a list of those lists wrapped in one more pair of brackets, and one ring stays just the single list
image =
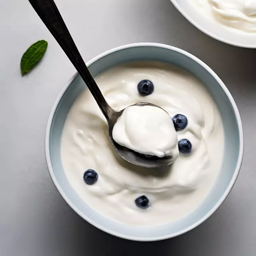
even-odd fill
[{"label": "small green leaf lying on the gray surface", "polygon": [[32,44],[28,50],[23,54],[20,61],[21,75],[28,73],[44,56],[48,43],[40,40]]}]

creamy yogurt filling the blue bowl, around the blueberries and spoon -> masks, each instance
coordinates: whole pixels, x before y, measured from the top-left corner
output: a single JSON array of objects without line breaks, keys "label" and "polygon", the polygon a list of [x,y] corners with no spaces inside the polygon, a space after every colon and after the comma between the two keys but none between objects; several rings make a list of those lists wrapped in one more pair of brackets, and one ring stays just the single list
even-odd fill
[{"label": "creamy yogurt filling the blue bowl, around the blueberries and spoon", "polygon": [[[151,95],[138,93],[143,79],[154,84]],[[116,110],[147,101],[171,117],[185,115],[188,125],[177,137],[188,139],[192,151],[180,153],[171,166],[161,169],[128,163],[111,146],[105,117],[85,89],[68,113],[61,140],[63,168],[77,194],[96,212],[134,226],[169,223],[195,210],[213,187],[224,150],[220,113],[204,85],[187,71],[156,61],[116,66],[95,80]],[[86,169],[99,175],[93,185],[83,180]],[[142,195],[150,201],[146,210],[134,202]]]}]

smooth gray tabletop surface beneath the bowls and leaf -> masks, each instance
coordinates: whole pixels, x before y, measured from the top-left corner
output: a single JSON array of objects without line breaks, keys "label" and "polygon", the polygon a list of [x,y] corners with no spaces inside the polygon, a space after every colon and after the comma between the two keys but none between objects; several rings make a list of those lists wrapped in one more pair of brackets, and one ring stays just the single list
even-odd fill
[{"label": "smooth gray tabletop surface beneath the bowls and leaf", "polygon": [[[85,61],[110,48],[157,42],[208,64],[233,95],[244,127],[244,160],[220,209],[191,232],[165,241],[126,241],[92,227],[65,203],[44,158],[52,104],[75,69],[26,0],[0,1],[0,254],[255,255],[256,50],[218,42],[194,28],[169,0],[56,0]],[[48,41],[43,61],[20,76],[20,58]]]}]

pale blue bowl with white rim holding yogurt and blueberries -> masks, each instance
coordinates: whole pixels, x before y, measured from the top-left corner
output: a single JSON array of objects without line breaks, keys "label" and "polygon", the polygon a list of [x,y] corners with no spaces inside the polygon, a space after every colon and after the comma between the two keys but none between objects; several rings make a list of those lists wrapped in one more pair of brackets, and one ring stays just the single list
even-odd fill
[{"label": "pale blue bowl with white rim holding yogurt and blueberries", "polygon": [[92,210],[78,196],[67,180],[60,157],[61,133],[65,119],[77,96],[86,87],[77,73],[61,90],[50,112],[45,134],[45,156],[54,185],[70,207],[84,220],[114,236],[136,241],[156,241],[188,232],[209,218],[223,203],[236,181],[242,162],[242,123],[236,104],[220,78],[201,60],[178,48],[155,43],[128,44],[104,52],[86,65],[92,76],[97,76],[108,68],[133,60],[159,60],[188,70],[203,82],[220,110],[225,134],[225,161],[214,187],[203,203],[195,211],[175,222],[157,227],[134,227],[107,219]]}]

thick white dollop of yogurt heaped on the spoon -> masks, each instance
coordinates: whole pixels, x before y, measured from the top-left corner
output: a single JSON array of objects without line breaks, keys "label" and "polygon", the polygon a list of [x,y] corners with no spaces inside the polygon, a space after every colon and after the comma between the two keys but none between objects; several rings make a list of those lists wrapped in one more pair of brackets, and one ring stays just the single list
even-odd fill
[{"label": "thick white dollop of yogurt heaped on the spoon", "polygon": [[130,106],[113,128],[113,139],[126,148],[158,157],[179,155],[177,132],[172,118],[161,108]]}]

